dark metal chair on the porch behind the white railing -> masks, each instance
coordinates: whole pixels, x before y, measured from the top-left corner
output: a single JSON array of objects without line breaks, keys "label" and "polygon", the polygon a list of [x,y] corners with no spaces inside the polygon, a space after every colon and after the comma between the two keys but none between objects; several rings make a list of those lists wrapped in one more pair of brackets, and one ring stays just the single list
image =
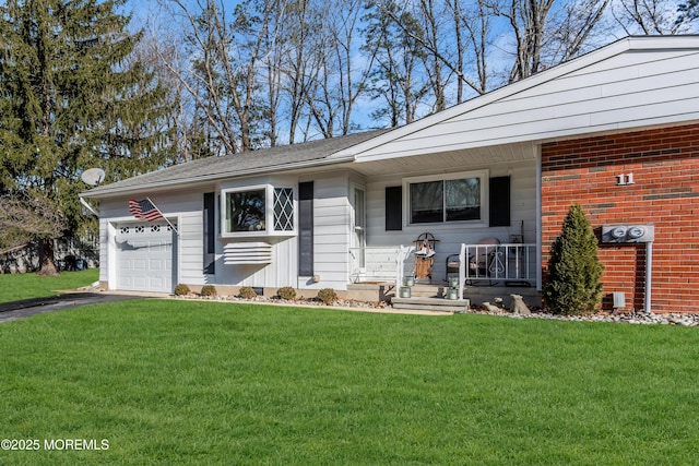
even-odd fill
[{"label": "dark metal chair on the porch behind the white railing", "polygon": [[[487,279],[488,285],[495,285],[494,277],[505,272],[505,263],[502,261],[501,248],[498,248],[500,240],[494,237],[482,238],[476,242],[475,253],[470,253],[466,258],[466,267],[469,268],[467,285],[482,285],[482,279]],[[450,254],[447,256],[445,268],[447,271],[446,280],[449,276],[459,274],[459,254]]]}]

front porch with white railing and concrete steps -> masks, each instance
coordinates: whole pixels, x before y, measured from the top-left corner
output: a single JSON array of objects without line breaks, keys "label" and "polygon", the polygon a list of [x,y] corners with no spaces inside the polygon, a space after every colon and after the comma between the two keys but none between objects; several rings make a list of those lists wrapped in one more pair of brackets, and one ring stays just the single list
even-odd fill
[{"label": "front porch with white railing and concrete steps", "polygon": [[541,306],[536,244],[462,243],[459,253],[431,255],[428,276],[416,275],[419,252],[403,246],[352,249],[348,295],[390,299],[398,309],[457,311],[496,298],[509,308],[512,294]]}]

